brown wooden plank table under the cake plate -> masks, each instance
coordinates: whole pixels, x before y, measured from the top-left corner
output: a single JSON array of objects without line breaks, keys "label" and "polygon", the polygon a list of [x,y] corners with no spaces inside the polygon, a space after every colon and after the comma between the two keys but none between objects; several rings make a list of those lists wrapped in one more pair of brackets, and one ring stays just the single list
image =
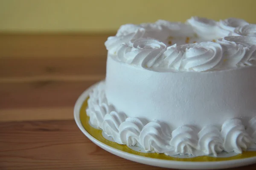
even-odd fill
[{"label": "brown wooden plank table under the cake plate", "polygon": [[73,120],[76,99],[105,77],[108,36],[0,35],[0,170],[164,169],[108,153]]}]

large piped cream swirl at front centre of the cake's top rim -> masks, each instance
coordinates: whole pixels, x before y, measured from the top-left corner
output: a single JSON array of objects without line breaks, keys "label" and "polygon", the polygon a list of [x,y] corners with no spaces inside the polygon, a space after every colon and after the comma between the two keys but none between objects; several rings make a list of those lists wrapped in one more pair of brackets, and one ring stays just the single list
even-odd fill
[{"label": "large piped cream swirl at front centre of the cake's top rim", "polygon": [[221,65],[223,50],[215,42],[201,42],[171,46],[163,53],[163,59],[154,67],[173,68],[180,71],[208,71]]}]

